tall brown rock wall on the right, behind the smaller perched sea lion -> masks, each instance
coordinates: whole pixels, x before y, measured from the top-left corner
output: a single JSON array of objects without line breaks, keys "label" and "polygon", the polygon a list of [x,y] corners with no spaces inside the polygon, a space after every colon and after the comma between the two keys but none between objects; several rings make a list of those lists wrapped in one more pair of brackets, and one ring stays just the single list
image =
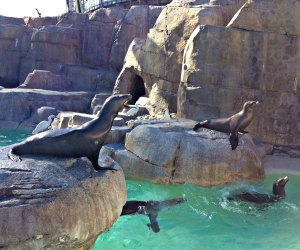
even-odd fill
[{"label": "tall brown rock wall on the right, behind the smaller perched sea lion", "polygon": [[275,150],[299,155],[294,152],[300,146],[296,13],[299,1],[255,0],[248,1],[227,28],[199,26],[184,53],[178,116],[228,116],[244,101],[259,100],[251,134]]}]

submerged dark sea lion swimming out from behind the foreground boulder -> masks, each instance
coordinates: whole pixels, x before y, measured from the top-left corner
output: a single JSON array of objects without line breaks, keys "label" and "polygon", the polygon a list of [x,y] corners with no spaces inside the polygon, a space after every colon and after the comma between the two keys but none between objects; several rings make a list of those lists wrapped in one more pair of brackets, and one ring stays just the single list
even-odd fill
[{"label": "submerged dark sea lion swimming out from behind the foreground boulder", "polygon": [[186,202],[185,198],[175,198],[165,201],[127,201],[122,209],[121,216],[130,214],[148,215],[150,223],[147,224],[153,232],[158,233],[160,228],[157,222],[158,212],[164,208],[169,208],[180,203]]}]

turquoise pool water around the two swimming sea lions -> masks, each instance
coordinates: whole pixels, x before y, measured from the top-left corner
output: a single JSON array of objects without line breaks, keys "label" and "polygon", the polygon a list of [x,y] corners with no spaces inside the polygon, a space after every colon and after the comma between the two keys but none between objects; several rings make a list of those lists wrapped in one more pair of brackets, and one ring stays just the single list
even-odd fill
[{"label": "turquoise pool water around the two swimming sea lions", "polygon": [[300,249],[300,176],[289,175],[287,197],[267,207],[226,197],[240,190],[268,193],[273,180],[203,188],[127,181],[128,200],[186,197],[187,202],[159,213],[160,232],[148,229],[144,215],[122,216],[100,235],[98,249]]}]

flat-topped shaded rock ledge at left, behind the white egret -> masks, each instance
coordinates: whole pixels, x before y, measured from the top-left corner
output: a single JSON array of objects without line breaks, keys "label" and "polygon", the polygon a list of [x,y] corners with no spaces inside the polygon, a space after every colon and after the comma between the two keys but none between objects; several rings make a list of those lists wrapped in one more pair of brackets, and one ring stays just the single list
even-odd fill
[{"label": "flat-topped shaded rock ledge at left, behind the white egret", "polygon": [[42,118],[39,108],[47,105],[56,110],[86,112],[93,94],[87,92],[59,92],[42,89],[0,89],[0,127],[31,128]]}]

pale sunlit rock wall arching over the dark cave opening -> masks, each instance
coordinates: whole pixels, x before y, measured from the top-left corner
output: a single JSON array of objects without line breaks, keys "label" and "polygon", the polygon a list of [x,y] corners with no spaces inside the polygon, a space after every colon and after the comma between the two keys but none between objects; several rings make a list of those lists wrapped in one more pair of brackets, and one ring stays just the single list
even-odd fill
[{"label": "pale sunlit rock wall arching over the dark cave opening", "polygon": [[[161,12],[145,40],[128,50],[122,73],[142,77],[152,111],[177,109],[182,56],[186,41],[199,24],[226,26],[244,1],[173,1]],[[130,77],[120,75],[115,91],[133,89]],[[121,91],[122,92],[122,91]]]}]

